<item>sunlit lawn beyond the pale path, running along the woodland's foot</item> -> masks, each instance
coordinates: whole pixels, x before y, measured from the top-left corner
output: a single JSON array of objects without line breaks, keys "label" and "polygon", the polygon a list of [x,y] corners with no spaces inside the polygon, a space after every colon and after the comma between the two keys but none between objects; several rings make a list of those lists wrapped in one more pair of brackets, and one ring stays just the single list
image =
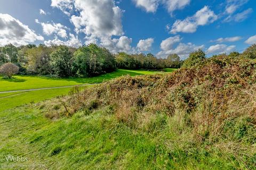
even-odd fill
[{"label": "sunlit lawn beyond the pale path, running along the woodland's foot", "polygon": [[135,75],[156,74],[156,73],[161,73],[161,72],[119,69],[112,73],[99,75],[98,77],[69,78],[69,79],[16,75],[13,77],[13,79],[10,79],[10,80],[0,78],[0,91],[26,90],[26,89],[60,87],[60,86],[73,86],[73,85],[85,84],[85,83],[100,83],[102,81],[117,78],[117,77],[120,77],[120,76],[126,75],[126,74],[135,76]]}]

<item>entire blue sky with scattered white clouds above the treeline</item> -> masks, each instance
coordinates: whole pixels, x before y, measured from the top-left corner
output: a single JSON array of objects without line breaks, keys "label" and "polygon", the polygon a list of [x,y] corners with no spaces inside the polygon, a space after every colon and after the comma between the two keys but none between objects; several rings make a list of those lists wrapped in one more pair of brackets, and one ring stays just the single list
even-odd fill
[{"label": "entire blue sky with scattered white clouds above the treeline", "polygon": [[186,58],[256,43],[254,0],[0,1],[0,45],[97,43],[111,52]]}]

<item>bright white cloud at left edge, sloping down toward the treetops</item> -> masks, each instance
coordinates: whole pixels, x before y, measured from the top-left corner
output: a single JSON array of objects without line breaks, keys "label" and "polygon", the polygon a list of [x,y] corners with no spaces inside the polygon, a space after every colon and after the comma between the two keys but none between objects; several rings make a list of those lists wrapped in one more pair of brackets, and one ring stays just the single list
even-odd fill
[{"label": "bright white cloud at left edge, sloping down toward the treetops", "polygon": [[11,15],[0,13],[0,46],[10,43],[21,46],[36,40],[43,41],[44,38]]}]

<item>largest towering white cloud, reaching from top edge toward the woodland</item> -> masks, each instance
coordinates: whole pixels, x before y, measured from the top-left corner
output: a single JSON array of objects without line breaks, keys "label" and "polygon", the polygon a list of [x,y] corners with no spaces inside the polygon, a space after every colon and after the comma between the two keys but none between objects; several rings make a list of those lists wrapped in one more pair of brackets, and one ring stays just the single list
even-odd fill
[{"label": "largest towering white cloud, reaching from top edge toward the woodland", "polygon": [[[132,50],[132,39],[123,36],[123,10],[113,0],[52,0],[52,6],[70,16],[75,32],[85,34],[85,44],[95,43],[111,52]],[[120,36],[113,38],[113,36]]]}]

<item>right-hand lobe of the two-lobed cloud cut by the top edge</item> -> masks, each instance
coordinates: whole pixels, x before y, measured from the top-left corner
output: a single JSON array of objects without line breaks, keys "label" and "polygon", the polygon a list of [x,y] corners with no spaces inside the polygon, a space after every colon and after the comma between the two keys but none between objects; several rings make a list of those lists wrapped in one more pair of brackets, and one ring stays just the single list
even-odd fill
[{"label": "right-hand lobe of the two-lobed cloud cut by the top edge", "polygon": [[190,3],[190,0],[163,0],[169,13],[172,14],[175,10],[181,10]]}]

